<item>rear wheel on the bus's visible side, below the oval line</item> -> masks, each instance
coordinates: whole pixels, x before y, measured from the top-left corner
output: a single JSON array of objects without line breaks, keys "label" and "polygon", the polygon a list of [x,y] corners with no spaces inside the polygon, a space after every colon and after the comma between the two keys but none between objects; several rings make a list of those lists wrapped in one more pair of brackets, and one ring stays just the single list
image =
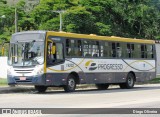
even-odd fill
[{"label": "rear wheel on the bus's visible side, below the oval line", "polygon": [[135,76],[132,73],[127,75],[125,83],[119,84],[121,89],[132,89],[135,84]]}]

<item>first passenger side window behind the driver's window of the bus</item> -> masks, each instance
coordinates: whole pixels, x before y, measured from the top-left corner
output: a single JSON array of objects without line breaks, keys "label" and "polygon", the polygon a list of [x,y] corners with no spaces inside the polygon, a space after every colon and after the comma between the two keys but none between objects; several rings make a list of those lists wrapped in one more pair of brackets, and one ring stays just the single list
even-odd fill
[{"label": "first passenger side window behind the driver's window of the bus", "polygon": [[66,39],[66,55],[67,56],[82,56],[81,40]]}]

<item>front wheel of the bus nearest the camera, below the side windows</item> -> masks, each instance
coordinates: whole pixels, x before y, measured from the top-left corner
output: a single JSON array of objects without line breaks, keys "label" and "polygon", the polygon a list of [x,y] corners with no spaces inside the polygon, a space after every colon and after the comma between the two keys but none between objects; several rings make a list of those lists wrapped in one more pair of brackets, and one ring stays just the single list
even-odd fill
[{"label": "front wheel of the bus nearest the camera, below the side windows", "polygon": [[73,92],[76,89],[76,81],[73,75],[69,75],[67,78],[67,84],[64,86],[65,92]]}]

